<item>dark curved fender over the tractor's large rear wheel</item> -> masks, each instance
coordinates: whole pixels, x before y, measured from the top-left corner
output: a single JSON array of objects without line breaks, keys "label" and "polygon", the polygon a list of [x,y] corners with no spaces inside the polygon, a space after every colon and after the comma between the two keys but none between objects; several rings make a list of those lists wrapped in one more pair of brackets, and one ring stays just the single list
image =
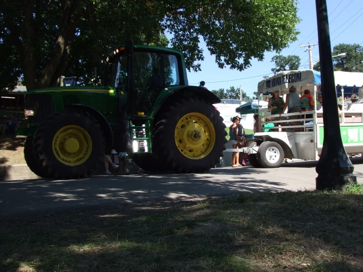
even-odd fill
[{"label": "dark curved fender over the tractor's large rear wheel", "polygon": [[150,118],[153,118],[161,108],[170,105],[173,101],[179,100],[182,97],[198,97],[210,104],[221,103],[221,99],[219,99],[217,95],[204,87],[183,86],[181,88],[173,88],[169,92],[164,93],[164,95],[156,101],[157,103],[154,104],[154,107],[151,110]]}]

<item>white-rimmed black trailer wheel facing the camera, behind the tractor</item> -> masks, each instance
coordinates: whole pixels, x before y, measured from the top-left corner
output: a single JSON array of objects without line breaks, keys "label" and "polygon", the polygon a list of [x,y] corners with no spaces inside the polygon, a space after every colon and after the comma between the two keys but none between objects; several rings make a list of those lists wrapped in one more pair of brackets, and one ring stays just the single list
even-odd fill
[{"label": "white-rimmed black trailer wheel facing the camera, behind the tractor", "polygon": [[285,154],[277,142],[265,141],[260,144],[257,151],[258,162],[266,168],[280,167]]}]

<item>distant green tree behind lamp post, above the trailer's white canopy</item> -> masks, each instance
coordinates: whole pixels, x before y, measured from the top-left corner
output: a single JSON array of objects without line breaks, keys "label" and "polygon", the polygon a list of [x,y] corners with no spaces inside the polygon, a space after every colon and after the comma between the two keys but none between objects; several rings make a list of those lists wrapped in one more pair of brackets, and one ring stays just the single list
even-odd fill
[{"label": "distant green tree behind lamp post, above the trailer's white canopy", "polygon": [[[359,44],[338,44],[333,48],[332,55],[345,53],[345,57],[334,57],[335,71],[363,73],[363,46]],[[314,65],[314,70],[320,71],[320,62]]]}]

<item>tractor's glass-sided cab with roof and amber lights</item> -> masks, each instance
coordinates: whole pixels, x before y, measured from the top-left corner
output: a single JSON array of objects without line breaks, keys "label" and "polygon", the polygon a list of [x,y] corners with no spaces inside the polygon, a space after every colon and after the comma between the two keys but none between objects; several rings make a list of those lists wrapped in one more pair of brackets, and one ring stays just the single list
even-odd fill
[{"label": "tractor's glass-sided cab with roof and amber lights", "polygon": [[104,85],[116,89],[119,111],[127,110],[131,120],[147,119],[159,95],[188,84],[183,65],[181,53],[174,49],[151,50],[129,42],[106,58]]}]

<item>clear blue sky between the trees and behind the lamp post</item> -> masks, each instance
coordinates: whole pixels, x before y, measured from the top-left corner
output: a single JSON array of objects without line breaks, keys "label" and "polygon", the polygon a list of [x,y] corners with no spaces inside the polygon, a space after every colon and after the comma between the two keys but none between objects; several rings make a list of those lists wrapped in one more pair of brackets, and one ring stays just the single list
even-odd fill
[{"label": "clear blue sky between the trees and behind the lamp post", "polygon": [[[362,0],[327,0],[329,27],[331,33],[332,49],[339,43],[357,43],[363,45],[363,1]],[[314,44],[318,42],[315,0],[300,0],[298,3],[298,16],[302,20],[297,28],[300,31],[298,40],[282,51],[282,55],[296,54],[301,58],[300,69],[309,69],[308,52],[306,48],[299,48],[300,44]],[[247,95],[252,96],[257,89],[257,84],[263,80],[264,74],[269,74],[274,67],[271,58],[275,52],[266,52],[263,61],[252,59],[251,67],[239,72],[229,67],[218,68],[214,56],[211,56],[205,47],[204,42],[200,44],[204,51],[204,61],[201,63],[201,71],[188,73],[189,84],[197,85],[205,81],[209,89],[227,89],[230,86],[239,87]],[[319,48],[312,49],[313,62],[319,60]],[[256,77],[258,76],[258,77]],[[253,77],[253,78],[251,78]],[[250,78],[250,79],[246,79]],[[220,82],[227,81],[227,82]]]}]

